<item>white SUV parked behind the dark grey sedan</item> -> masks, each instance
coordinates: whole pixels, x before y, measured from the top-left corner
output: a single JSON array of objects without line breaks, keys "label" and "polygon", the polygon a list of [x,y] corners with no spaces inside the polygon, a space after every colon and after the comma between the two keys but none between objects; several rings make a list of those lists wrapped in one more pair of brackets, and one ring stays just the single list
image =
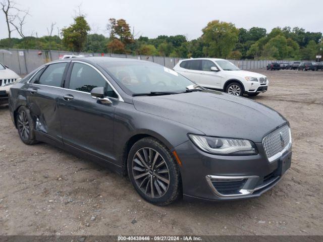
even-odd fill
[{"label": "white SUV parked behind the dark grey sedan", "polygon": [[266,76],[242,71],[226,59],[183,59],[174,70],[202,87],[237,96],[256,96],[268,88]]}]

